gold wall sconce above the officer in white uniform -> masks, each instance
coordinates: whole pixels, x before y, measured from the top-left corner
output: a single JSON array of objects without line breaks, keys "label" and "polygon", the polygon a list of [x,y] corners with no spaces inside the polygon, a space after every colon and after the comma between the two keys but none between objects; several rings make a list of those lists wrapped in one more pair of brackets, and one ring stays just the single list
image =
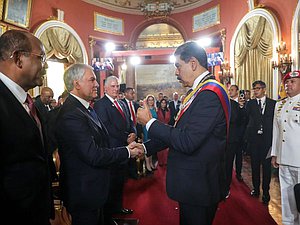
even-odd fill
[{"label": "gold wall sconce above the officer in white uniform", "polygon": [[278,61],[272,60],[272,68],[279,69],[282,75],[291,71],[293,59],[290,54],[287,53],[286,43],[281,41],[276,47],[278,53]]}]

